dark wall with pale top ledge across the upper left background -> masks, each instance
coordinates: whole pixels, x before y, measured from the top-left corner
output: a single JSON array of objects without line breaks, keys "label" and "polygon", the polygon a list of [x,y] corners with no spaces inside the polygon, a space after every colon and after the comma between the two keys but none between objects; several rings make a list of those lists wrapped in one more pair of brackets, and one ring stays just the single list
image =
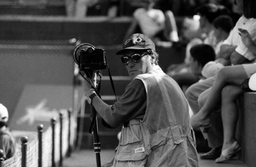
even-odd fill
[{"label": "dark wall with pale top ledge across the upper left background", "polygon": [[[178,29],[183,17],[177,17]],[[0,39],[61,40],[79,38],[93,45],[123,43],[131,17],[91,16],[82,19],[65,16],[0,15]]]}]

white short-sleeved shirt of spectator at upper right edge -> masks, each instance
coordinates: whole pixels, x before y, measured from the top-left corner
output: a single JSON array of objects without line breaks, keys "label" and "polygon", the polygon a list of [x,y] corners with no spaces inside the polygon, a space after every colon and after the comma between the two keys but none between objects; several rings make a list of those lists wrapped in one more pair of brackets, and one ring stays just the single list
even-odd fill
[{"label": "white short-sleeved shirt of spectator at upper right edge", "polygon": [[243,44],[241,37],[239,35],[238,28],[243,28],[249,32],[252,40],[256,41],[256,19],[247,19],[245,16],[241,16],[236,22],[233,30],[231,31],[228,38],[223,42],[226,45],[236,45],[236,52],[243,55],[246,59],[252,61],[256,56]]}]

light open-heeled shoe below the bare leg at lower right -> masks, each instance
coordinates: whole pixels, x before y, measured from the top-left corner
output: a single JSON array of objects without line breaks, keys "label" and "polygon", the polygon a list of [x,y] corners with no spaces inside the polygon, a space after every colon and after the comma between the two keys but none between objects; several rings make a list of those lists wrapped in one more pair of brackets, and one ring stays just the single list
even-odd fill
[{"label": "light open-heeled shoe below the bare leg at lower right", "polygon": [[241,147],[238,145],[237,141],[234,141],[234,143],[230,147],[226,148],[221,152],[221,156],[215,160],[215,163],[222,163],[226,160],[229,160],[239,150],[241,150]]}]

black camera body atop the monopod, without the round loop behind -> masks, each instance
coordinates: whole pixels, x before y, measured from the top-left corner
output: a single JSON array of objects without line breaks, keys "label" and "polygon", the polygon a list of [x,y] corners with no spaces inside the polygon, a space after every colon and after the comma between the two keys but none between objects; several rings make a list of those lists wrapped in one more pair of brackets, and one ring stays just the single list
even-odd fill
[{"label": "black camera body atop the monopod, without the round loop behind", "polygon": [[108,67],[106,52],[101,48],[89,47],[87,49],[81,49],[79,59],[81,71],[106,69]]}]

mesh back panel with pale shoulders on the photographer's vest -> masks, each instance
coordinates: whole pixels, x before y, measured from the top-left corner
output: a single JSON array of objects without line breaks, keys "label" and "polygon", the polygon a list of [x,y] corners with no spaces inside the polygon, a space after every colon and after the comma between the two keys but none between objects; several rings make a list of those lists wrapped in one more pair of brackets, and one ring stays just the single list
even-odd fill
[{"label": "mesh back panel with pale shoulders on the photographer's vest", "polygon": [[[142,121],[145,146],[161,145],[168,139],[180,143],[191,134],[189,106],[179,85],[161,69],[136,77],[147,93],[147,108]],[[149,135],[149,136],[148,136]]]}]

